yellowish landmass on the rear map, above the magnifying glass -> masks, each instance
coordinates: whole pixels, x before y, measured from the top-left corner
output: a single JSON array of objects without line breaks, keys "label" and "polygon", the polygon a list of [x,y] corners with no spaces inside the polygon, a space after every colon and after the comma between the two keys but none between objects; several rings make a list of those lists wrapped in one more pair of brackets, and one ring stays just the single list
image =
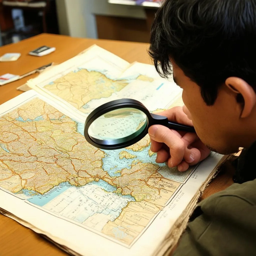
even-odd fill
[{"label": "yellowish landmass on the rear map, above the magnifying glass", "polygon": [[126,80],[112,80],[98,71],[81,69],[56,79],[44,88],[69,102],[76,109],[87,113],[83,106],[89,101],[110,97],[112,93],[122,90],[127,84]]}]

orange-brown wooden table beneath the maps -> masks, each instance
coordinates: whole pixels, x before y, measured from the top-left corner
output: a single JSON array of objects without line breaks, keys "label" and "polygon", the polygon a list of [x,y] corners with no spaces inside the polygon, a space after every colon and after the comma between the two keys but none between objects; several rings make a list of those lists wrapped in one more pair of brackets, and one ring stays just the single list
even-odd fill
[{"label": "orange-brown wooden table beneath the maps", "polygon": [[[0,62],[1,74],[12,73],[22,75],[50,62],[61,63],[93,44],[113,52],[128,62],[151,63],[146,51],[148,44],[41,34],[16,44],[0,47],[0,56],[7,52],[20,52],[22,54],[17,61]],[[44,57],[28,55],[30,50],[42,45],[56,47],[56,51]],[[17,91],[16,88],[35,76],[36,74],[0,87],[0,104],[22,93]],[[230,166],[224,168],[206,188],[202,199],[230,186],[233,183],[232,174]],[[0,215],[0,256],[2,255],[58,256],[67,254],[30,229],[25,228],[10,218]]]}]

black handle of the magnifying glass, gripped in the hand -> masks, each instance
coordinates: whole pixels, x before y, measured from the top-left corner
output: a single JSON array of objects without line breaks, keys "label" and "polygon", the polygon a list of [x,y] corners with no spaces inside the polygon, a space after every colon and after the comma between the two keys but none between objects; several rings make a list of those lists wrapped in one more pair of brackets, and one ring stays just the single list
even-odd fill
[{"label": "black handle of the magnifying glass, gripped in the hand", "polygon": [[150,126],[154,124],[160,124],[168,127],[169,129],[180,131],[180,132],[196,132],[193,126],[170,122],[168,121],[166,116],[156,115],[153,113],[150,113],[150,115],[152,117]]}]

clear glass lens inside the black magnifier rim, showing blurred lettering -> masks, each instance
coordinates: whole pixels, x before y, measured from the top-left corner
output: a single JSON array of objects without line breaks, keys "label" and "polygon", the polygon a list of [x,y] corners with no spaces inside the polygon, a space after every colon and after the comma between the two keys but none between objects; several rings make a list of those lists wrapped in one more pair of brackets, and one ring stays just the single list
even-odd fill
[{"label": "clear glass lens inside the black magnifier rim, showing blurred lettering", "polygon": [[88,135],[96,140],[112,141],[119,139],[131,140],[144,131],[147,116],[134,108],[112,110],[92,122]]}]

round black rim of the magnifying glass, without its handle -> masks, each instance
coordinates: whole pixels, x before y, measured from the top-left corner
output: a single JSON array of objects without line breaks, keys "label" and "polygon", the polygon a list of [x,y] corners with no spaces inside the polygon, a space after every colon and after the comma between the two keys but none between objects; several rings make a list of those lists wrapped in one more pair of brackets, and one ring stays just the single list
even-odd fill
[{"label": "round black rim of the magnifying glass, without its handle", "polygon": [[[108,142],[111,142],[111,140],[108,140],[108,141],[106,140],[106,142],[104,144],[102,144],[102,140],[97,140],[96,138],[92,139],[89,136],[88,129],[94,120],[96,120],[101,115],[104,115],[112,110],[121,109],[121,108],[134,108],[134,109],[138,109],[138,110],[142,111],[144,114],[146,114],[146,117],[147,117],[146,125],[144,125],[144,130],[141,131],[140,134],[138,134],[137,136],[134,137],[134,133],[133,133],[133,134],[125,137],[128,141],[122,141],[121,143],[118,143],[118,144],[109,144]],[[141,102],[139,102],[137,100],[133,100],[133,99],[113,100],[113,101],[107,102],[107,103],[99,106],[98,108],[94,109],[87,116],[86,122],[84,124],[84,137],[91,145],[93,145],[97,148],[104,149],[104,150],[114,150],[114,149],[125,148],[125,147],[133,145],[134,143],[140,141],[143,137],[146,136],[149,123],[151,123],[151,119],[152,119],[152,117],[150,115],[150,112],[147,110],[147,108]],[[131,138],[130,140],[129,140],[129,137]],[[123,139],[125,139],[125,138],[123,138]],[[97,143],[97,141],[99,143]]]}]

